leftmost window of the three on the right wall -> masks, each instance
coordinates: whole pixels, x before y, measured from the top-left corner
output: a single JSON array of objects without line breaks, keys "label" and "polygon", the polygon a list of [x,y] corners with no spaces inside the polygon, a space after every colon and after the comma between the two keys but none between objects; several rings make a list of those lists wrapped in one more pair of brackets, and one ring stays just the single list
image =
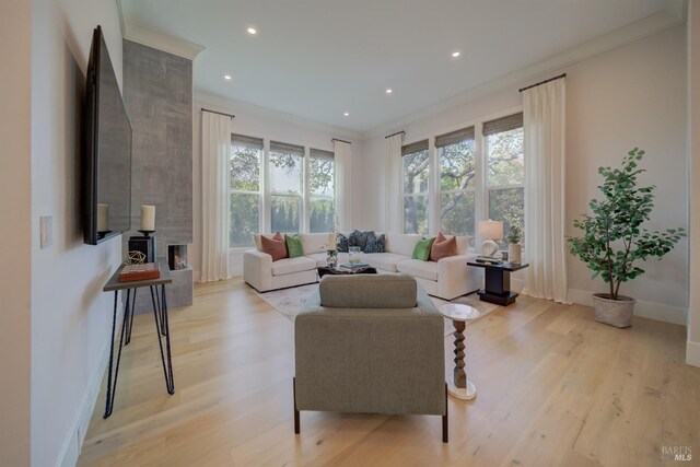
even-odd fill
[{"label": "leftmost window of the three on the right wall", "polygon": [[428,140],[401,148],[404,164],[404,233],[427,234],[429,227]]}]

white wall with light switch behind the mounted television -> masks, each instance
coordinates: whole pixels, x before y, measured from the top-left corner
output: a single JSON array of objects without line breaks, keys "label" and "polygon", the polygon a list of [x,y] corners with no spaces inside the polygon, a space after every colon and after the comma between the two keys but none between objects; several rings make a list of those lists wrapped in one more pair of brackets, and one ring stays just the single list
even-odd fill
[{"label": "white wall with light switch behind the mounted television", "polygon": [[[119,237],[83,244],[84,74],[100,24],[121,84],[121,32],[114,0],[32,3],[32,464],[71,465],[109,342],[112,295],[102,287],[121,257]],[[54,218],[54,245],[45,249],[39,215]]]}]

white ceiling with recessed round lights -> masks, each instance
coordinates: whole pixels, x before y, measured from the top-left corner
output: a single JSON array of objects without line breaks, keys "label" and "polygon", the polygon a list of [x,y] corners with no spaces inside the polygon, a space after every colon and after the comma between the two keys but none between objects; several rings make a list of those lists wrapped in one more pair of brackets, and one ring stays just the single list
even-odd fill
[{"label": "white ceiling with recessed round lights", "polygon": [[[203,47],[196,90],[363,132],[639,22],[668,2],[120,0],[120,10],[126,31]],[[248,34],[249,26],[258,33]]]}]

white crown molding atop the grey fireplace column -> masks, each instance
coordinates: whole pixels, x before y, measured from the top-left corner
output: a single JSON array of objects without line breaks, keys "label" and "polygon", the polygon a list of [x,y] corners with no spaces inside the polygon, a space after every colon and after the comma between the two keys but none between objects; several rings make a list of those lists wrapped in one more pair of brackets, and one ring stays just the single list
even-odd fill
[{"label": "white crown molding atop the grey fireplace column", "polygon": [[127,40],[139,43],[192,61],[199,52],[205,49],[205,47],[199,44],[141,26],[136,21],[131,1],[117,0],[117,10],[119,11],[121,37]]}]

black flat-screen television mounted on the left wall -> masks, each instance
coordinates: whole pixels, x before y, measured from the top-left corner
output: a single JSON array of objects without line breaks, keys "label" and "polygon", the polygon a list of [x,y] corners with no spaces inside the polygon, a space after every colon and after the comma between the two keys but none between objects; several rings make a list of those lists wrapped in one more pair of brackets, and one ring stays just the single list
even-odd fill
[{"label": "black flat-screen television mounted on the left wall", "polygon": [[131,229],[131,124],[100,26],[92,36],[84,117],[83,234],[96,245]]}]

